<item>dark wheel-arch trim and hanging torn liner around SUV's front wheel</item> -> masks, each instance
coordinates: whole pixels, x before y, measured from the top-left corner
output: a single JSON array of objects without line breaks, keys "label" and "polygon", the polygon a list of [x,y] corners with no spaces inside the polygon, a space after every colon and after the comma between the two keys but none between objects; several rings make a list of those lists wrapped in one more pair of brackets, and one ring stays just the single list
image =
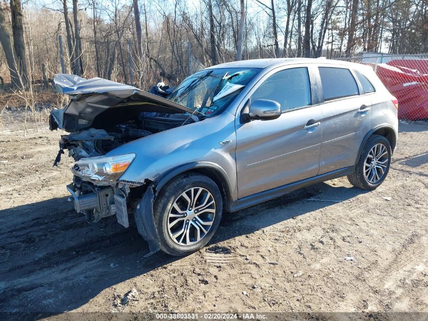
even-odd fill
[{"label": "dark wheel-arch trim and hanging torn liner around SUV's front wheel", "polygon": [[150,256],[159,251],[161,248],[158,230],[154,224],[153,216],[153,203],[157,197],[157,194],[162,190],[168,182],[170,182],[174,177],[190,171],[192,169],[210,169],[215,171],[217,175],[220,175],[219,179],[222,180],[223,188],[226,193],[226,198],[231,200],[231,191],[230,191],[230,180],[226,171],[218,166],[215,163],[211,162],[191,162],[177,166],[164,174],[157,177],[157,179],[149,183],[147,190],[145,191],[143,197],[139,201],[137,208],[134,212],[135,223],[137,225],[138,233],[147,241],[149,247],[149,253],[145,256]]}]

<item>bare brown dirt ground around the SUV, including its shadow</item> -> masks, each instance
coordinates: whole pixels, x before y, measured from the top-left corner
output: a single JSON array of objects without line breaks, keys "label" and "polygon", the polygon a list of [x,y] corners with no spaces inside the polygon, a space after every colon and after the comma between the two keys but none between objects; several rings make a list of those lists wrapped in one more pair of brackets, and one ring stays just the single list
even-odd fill
[{"label": "bare brown dirt ground around the SUV, including its shadow", "polygon": [[400,123],[377,190],[342,178],[226,214],[184,258],[87,223],[69,159],[52,168],[61,132],[18,128],[0,125],[0,311],[428,312],[427,123]]}]

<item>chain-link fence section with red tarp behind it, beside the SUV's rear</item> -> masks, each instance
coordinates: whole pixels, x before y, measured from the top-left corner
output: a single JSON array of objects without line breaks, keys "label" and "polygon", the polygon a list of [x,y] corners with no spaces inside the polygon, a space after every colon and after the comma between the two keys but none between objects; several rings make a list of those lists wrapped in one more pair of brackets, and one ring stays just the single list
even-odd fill
[{"label": "chain-link fence section with red tarp behind it, beside the SUV's rear", "polygon": [[428,54],[363,53],[359,57],[339,59],[370,65],[398,99],[399,119],[428,120]]}]

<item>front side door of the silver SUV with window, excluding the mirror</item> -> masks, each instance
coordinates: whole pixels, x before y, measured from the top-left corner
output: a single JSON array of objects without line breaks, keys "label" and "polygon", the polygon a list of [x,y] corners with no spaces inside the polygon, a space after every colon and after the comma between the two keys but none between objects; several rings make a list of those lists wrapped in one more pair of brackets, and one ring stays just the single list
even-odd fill
[{"label": "front side door of the silver SUV with window, excluding the mirror", "polygon": [[[274,120],[236,120],[238,197],[316,176],[320,166],[322,113],[311,106],[306,67],[268,76],[250,97],[275,100],[282,115]],[[240,112],[240,111],[238,111]]]}]

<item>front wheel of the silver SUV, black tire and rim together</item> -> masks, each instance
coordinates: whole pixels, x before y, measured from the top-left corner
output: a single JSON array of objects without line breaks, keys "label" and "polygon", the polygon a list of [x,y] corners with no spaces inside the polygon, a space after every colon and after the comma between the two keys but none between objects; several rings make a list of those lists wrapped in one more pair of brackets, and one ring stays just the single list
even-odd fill
[{"label": "front wheel of the silver SUV, black tire and rim together", "polygon": [[191,173],[171,181],[153,204],[162,251],[183,256],[204,247],[220,224],[222,208],[220,190],[209,177]]}]

